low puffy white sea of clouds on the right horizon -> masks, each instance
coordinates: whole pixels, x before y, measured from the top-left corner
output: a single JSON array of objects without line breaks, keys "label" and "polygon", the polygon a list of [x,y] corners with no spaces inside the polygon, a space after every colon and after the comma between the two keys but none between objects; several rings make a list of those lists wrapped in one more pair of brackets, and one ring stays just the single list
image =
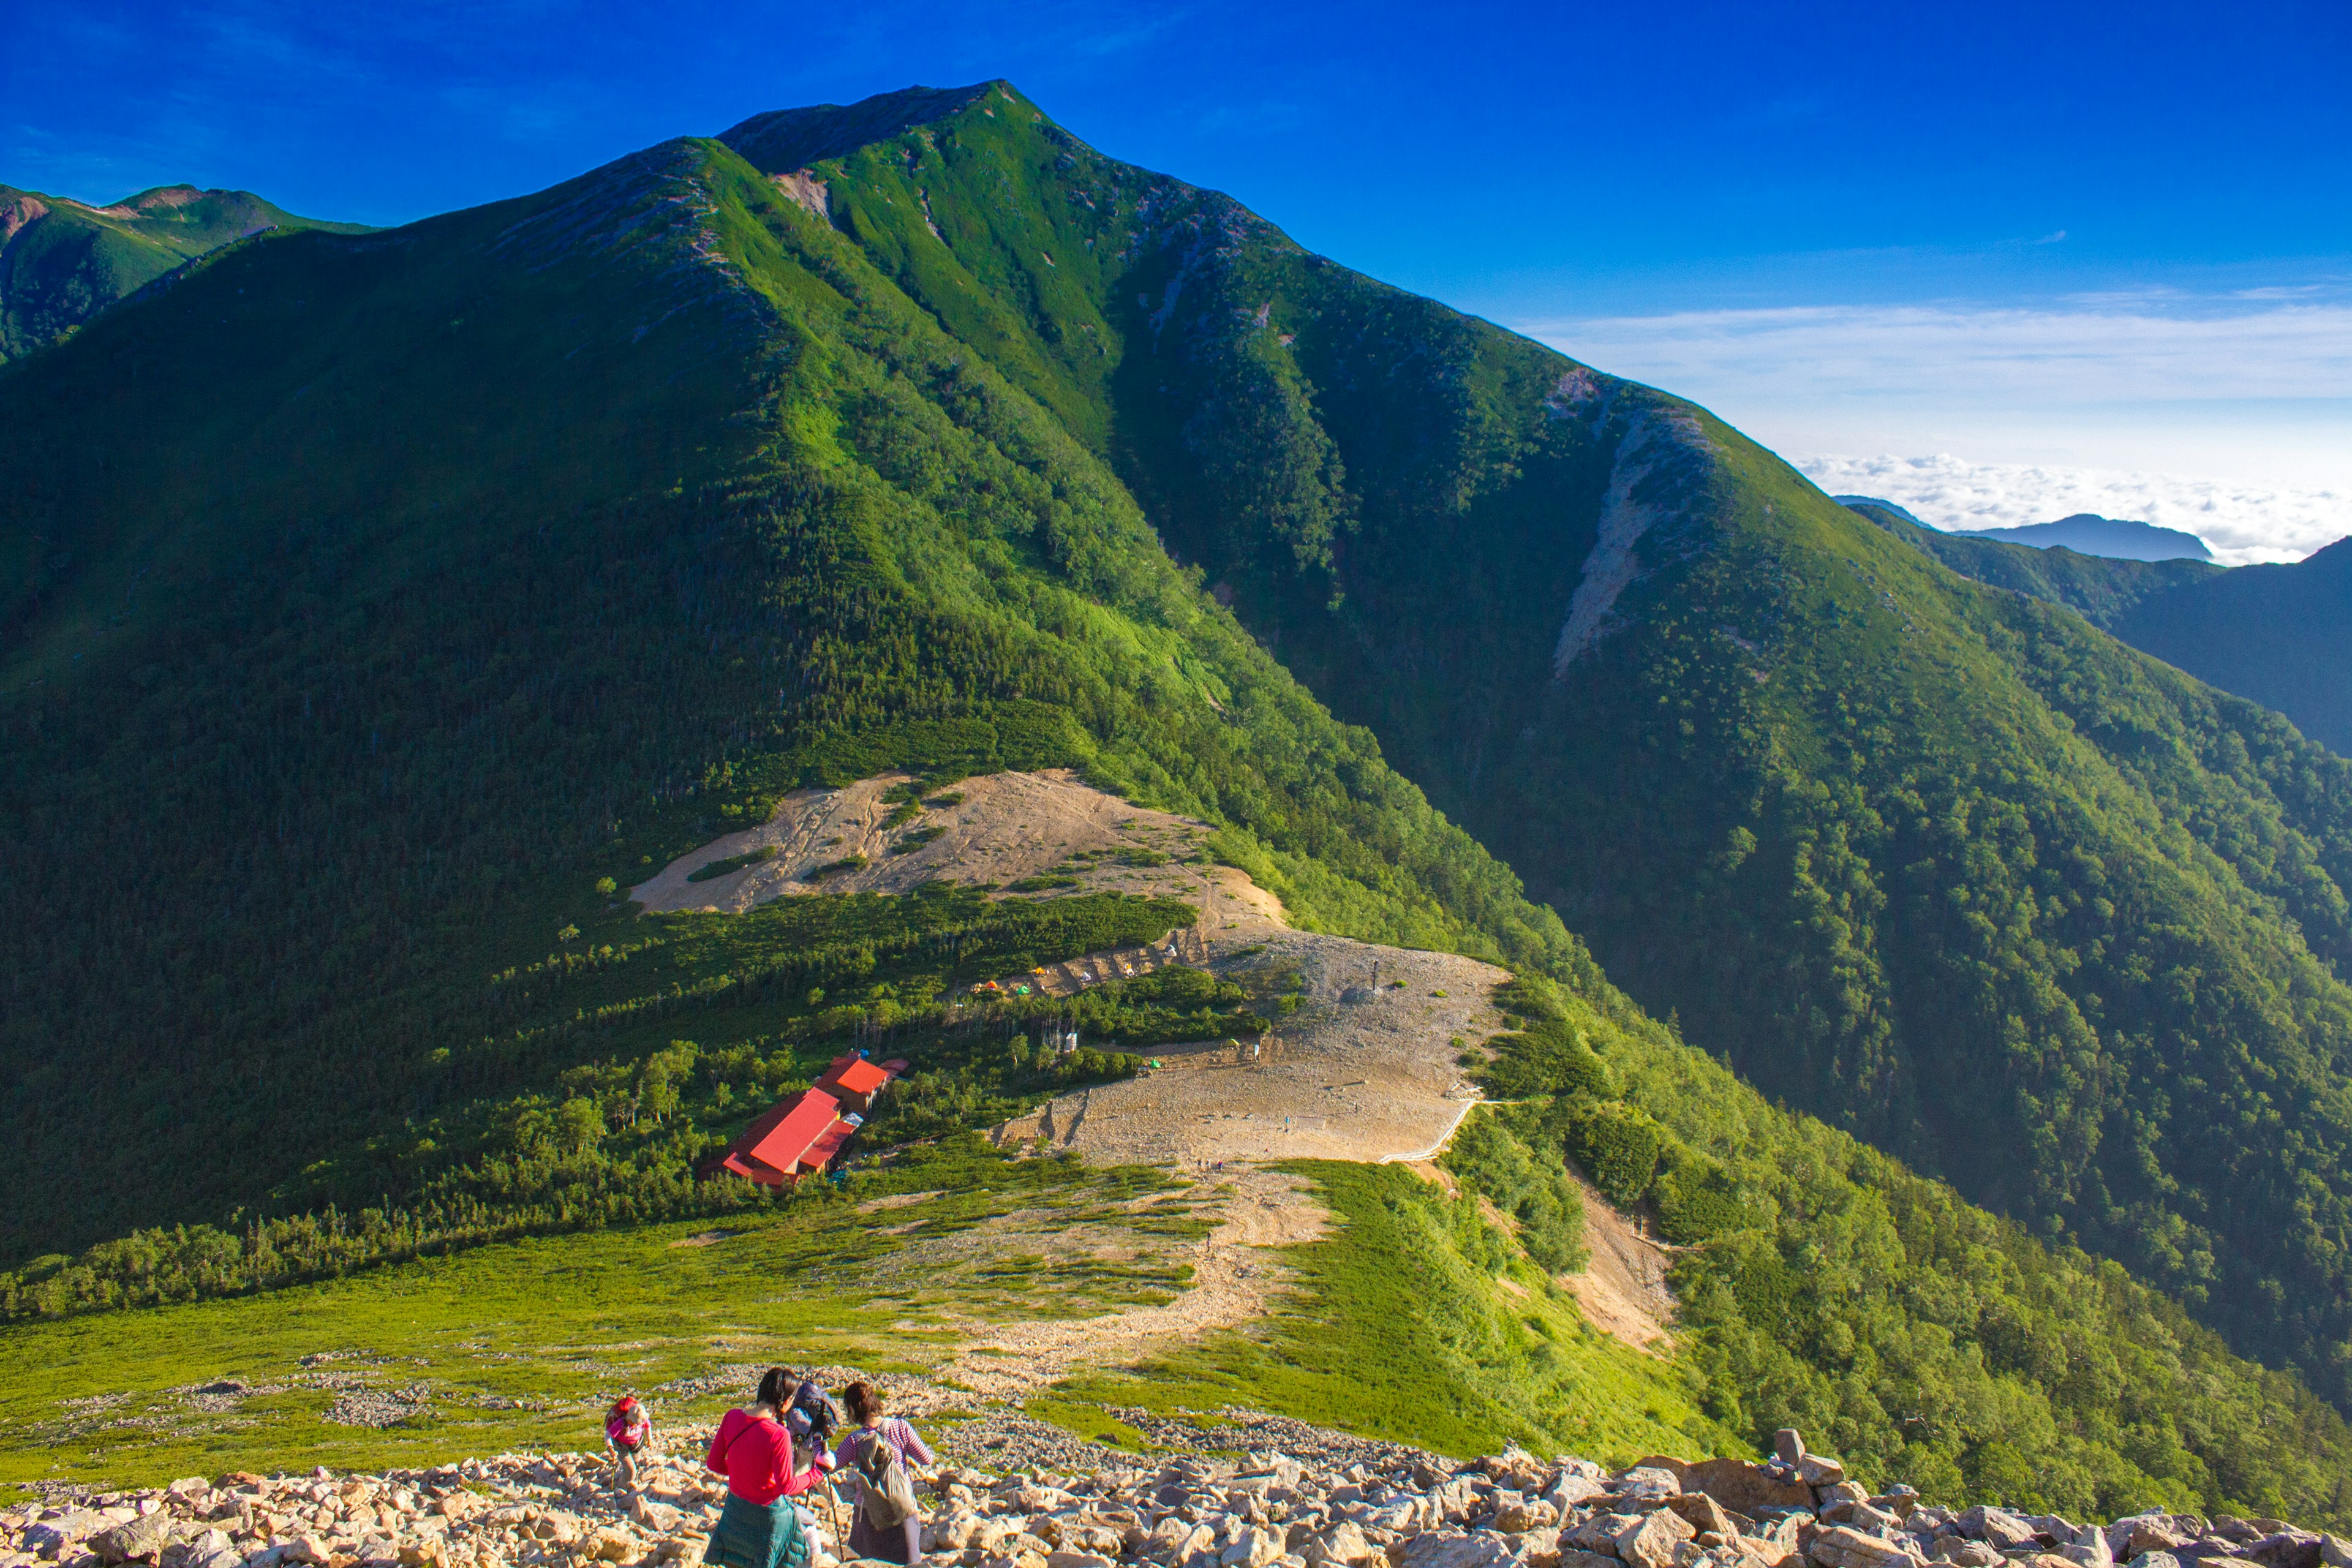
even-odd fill
[{"label": "low puffy white sea of clouds on the right horizon", "polygon": [[2352,487],[2288,489],[2161,473],[1924,458],[1792,456],[1832,496],[1879,496],[1938,529],[2009,529],[2072,512],[2197,534],[2232,567],[2303,559],[2352,534]]}]

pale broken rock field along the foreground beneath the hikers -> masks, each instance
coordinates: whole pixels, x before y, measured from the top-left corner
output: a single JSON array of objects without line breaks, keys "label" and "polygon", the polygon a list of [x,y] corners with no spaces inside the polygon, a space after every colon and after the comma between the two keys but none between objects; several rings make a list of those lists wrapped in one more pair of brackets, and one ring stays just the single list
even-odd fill
[{"label": "pale broken rock field along the foreground beneath the hikers", "polygon": [[[1296,1422],[1284,1422],[1294,1427]],[[2277,1519],[2072,1523],[1882,1495],[1778,1434],[1766,1465],[1651,1458],[1606,1474],[1522,1450],[1454,1465],[1301,1427],[1298,1453],[1134,1455],[1058,1474],[948,1465],[927,1481],[929,1568],[2352,1568]],[[1110,1450],[1098,1450],[1110,1453]],[[501,1455],[383,1476],[174,1481],[0,1512],[0,1568],[699,1568],[722,1490],[687,1460],[616,1488],[588,1455]],[[816,1568],[844,1505],[818,1497]]]}]

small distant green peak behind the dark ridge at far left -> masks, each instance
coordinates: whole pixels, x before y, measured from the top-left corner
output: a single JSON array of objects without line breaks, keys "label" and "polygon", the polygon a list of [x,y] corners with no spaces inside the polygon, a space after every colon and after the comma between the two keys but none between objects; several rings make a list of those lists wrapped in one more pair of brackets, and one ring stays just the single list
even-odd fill
[{"label": "small distant green peak behind the dark ridge at far left", "polygon": [[113,207],[0,186],[0,360],[21,357],[172,268],[249,235],[358,223],[296,219],[249,190],[158,186]]}]

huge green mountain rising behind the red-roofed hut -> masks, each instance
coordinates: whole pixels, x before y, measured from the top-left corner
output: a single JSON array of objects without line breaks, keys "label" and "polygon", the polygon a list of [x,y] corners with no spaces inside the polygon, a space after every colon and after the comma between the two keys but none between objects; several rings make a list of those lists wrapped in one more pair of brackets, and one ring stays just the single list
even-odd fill
[{"label": "huge green mountain rising behind the red-roofed hut", "polygon": [[0,369],[0,465],[16,1319],[764,1206],[696,1161],[851,1041],[906,1138],[1117,1072],[943,997],[1190,910],[619,900],[800,783],[1075,766],[1517,971],[1449,1161],[1519,1234],[1322,1178],[1418,1248],[1315,1286],[1350,1378],[1566,1399],[1543,1314],[1345,1314],[1562,1258],[1573,1159],[1686,1246],[1691,1443],[2352,1519],[2204,1326],[2340,1392],[2345,764],[1002,82],[228,247]]}]

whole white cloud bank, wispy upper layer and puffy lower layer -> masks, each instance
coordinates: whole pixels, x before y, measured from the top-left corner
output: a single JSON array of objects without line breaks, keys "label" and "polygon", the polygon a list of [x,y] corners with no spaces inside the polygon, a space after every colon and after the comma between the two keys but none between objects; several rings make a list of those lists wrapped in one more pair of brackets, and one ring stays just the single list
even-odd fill
[{"label": "whole white cloud bank, wispy upper layer and puffy lower layer", "polygon": [[[1785,306],[1524,322],[1693,397],[1828,491],[1945,527],[2138,517],[2227,562],[2352,534],[2352,299],[2340,277],[2039,306]],[[1959,456],[1952,456],[1959,454]]]}]

